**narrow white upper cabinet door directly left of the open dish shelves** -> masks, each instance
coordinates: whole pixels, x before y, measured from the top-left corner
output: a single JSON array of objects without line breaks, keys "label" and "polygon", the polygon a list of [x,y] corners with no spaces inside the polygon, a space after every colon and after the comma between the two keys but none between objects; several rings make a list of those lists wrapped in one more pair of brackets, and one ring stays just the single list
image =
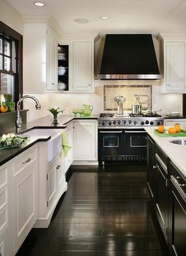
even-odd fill
[{"label": "narrow white upper cabinet door directly left of the open dish shelves", "polygon": [[58,39],[47,29],[47,90],[58,90]]}]

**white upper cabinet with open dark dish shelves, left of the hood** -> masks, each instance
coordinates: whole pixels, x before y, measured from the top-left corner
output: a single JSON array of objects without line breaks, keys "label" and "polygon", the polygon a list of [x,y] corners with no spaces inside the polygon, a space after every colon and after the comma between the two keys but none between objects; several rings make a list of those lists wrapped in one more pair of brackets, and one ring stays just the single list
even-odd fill
[{"label": "white upper cabinet with open dark dish shelves, left of the hood", "polygon": [[95,35],[64,36],[58,45],[58,92],[94,92]]}]

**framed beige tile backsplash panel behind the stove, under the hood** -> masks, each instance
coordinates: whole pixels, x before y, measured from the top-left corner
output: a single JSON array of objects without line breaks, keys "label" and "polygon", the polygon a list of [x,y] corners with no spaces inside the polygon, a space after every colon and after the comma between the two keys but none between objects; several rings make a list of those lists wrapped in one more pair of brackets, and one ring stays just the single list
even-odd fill
[{"label": "framed beige tile backsplash panel behind the stove, under the hood", "polygon": [[125,111],[131,111],[132,104],[136,104],[135,95],[139,96],[139,102],[143,103],[143,110],[152,107],[152,85],[104,85],[104,111],[117,111],[117,103],[113,98],[119,95],[126,98],[123,105]]}]

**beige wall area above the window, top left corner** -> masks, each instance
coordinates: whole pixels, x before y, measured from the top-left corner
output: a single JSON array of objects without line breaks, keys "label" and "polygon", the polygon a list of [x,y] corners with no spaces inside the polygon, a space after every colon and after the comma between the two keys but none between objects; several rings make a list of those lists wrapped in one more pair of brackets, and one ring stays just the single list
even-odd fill
[{"label": "beige wall area above the window, top left corner", "polygon": [[23,19],[20,13],[13,6],[10,6],[6,0],[0,0],[0,20],[23,35]]}]

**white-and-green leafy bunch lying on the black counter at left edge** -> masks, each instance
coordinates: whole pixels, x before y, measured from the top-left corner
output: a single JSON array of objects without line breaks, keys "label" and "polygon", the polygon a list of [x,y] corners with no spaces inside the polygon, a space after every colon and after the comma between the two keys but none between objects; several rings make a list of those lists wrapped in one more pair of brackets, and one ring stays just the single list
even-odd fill
[{"label": "white-and-green leafy bunch lying on the black counter at left edge", "polygon": [[15,134],[3,134],[0,137],[0,149],[9,149],[20,146],[28,137],[20,137]]}]

